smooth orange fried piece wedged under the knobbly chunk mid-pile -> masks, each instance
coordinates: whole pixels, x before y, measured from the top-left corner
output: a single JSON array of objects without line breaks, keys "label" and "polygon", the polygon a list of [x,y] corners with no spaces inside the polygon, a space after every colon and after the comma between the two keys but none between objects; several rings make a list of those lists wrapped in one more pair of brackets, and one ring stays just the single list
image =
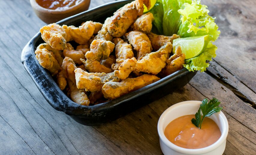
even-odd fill
[{"label": "smooth orange fried piece wedged under the knobbly chunk mid-pile", "polygon": [[111,73],[113,71],[111,68],[108,68],[108,67],[100,64],[100,62],[97,60],[87,59],[85,61],[84,59],[81,59],[81,62],[84,63],[84,67],[90,73]]}]

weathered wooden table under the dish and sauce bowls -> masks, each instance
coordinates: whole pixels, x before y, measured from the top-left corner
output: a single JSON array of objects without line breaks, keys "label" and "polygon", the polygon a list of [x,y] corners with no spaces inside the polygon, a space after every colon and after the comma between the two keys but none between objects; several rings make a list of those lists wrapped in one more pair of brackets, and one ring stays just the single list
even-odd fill
[{"label": "weathered wooden table under the dish and sauce bowls", "polygon": [[[90,8],[112,0],[91,0]],[[53,109],[20,54],[44,26],[29,0],[0,0],[0,154],[161,154],[157,121],[166,108],[217,97],[229,134],[224,154],[256,154],[256,1],[204,0],[221,35],[217,57],[182,89],[102,126]]]}]

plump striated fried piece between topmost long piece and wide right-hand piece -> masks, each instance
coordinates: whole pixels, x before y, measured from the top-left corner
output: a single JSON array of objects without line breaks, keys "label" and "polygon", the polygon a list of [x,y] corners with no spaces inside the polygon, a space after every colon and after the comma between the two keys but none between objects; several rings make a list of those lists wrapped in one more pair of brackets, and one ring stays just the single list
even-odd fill
[{"label": "plump striated fried piece between topmost long piece and wide right-hand piece", "polygon": [[147,53],[152,51],[151,42],[148,36],[140,31],[131,31],[125,34],[125,37],[133,45],[134,50],[137,51],[137,60],[142,59]]}]

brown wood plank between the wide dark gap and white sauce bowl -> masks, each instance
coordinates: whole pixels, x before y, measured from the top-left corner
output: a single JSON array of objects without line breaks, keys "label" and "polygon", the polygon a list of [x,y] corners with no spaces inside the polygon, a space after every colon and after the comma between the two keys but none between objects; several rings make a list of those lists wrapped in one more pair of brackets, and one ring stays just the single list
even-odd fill
[{"label": "brown wood plank between the wide dark gap and white sauce bowl", "polygon": [[189,83],[207,98],[218,98],[225,112],[256,132],[256,110],[245,104],[231,90],[206,73],[197,73]]}]

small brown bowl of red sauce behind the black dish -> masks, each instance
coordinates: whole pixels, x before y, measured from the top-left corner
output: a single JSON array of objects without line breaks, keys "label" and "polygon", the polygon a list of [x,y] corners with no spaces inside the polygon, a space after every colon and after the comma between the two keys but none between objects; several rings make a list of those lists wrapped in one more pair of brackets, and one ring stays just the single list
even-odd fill
[{"label": "small brown bowl of red sauce behind the black dish", "polygon": [[80,12],[88,10],[90,6],[90,0],[82,0],[78,5],[74,5],[64,10],[51,10],[46,9],[38,5],[36,0],[30,0],[30,4],[35,11],[35,14],[43,20],[45,23],[56,23],[59,20],[73,16]]}]

